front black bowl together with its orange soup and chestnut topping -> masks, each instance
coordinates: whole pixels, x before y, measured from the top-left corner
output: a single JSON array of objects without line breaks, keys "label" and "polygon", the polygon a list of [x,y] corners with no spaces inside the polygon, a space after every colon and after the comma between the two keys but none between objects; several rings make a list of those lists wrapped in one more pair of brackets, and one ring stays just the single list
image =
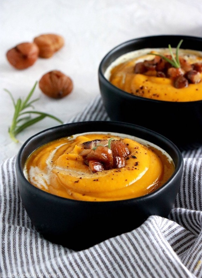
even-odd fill
[{"label": "front black bowl together with its orange soup and chestnut topping", "polygon": [[183,158],[170,140],[121,122],[56,126],[28,139],[16,159],[23,205],[36,229],[70,249],[88,248],[167,217]]}]

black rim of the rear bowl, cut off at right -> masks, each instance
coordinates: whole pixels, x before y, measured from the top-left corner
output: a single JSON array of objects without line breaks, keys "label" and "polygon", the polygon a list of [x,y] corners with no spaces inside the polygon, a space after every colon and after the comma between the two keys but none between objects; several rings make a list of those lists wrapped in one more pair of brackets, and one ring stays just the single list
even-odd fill
[{"label": "black rim of the rear bowl, cut off at right", "polygon": [[[119,50],[121,49],[124,49],[125,47],[131,45],[131,44],[134,44],[135,42],[138,42],[138,41],[141,41],[141,40],[150,40],[150,39],[163,39],[165,37],[171,37],[171,38],[177,38],[179,37],[179,39],[193,39],[193,40],[196,40],[196,41],[201,41],[202,43],[202,37],[197,37],[197,36],[191,36],[191,35],[152,35],[152,36],[145,36],[145,37],[137,37],[137,38],[134,38],[134,39],[130,39],[130,40],[127,40],[127,41],[124,41],[120,44],[118,44],[117,46],[113,47],[111,50],[109,50],[105,56],[102,58],[102,60],[100,61],[100,64],[98,66],[98,79],[99,79],[99,83],[101,82],[104,82],[104,84],[106,86],[108,86],[109,88],[111,88],[111,90],[114,90],[118,95],[123,95],[125,96],[126,98],[128,98],[129,100],[131,99],[142,99],[143,101],[145,102],[152,102],[152,103],[172,103],[173,105],[179,105],[179,103],[181,105],[184,105],[184,103],[191,103],[191,104],[194,104],[194,103],[201,103],[202,102],[202,99],[201,100],[198,100],[198,101],[186,101],[186,102],[183,102],[183,101],[177,101],[177,102],[173,102],[173,101],[163,101],[163,100],[158,100],[158,99],[149,99],[149,98],[144,98],[144,97],[141,97],[141,96],[136,96],[136,95],[133,95],[133,94],[130,94],[128,92],[125,92],[124,90],[121,90],[119,89],[118,87],[114,86],[113,84],[111,84],[111,82],[109,82],[109,80],[107,80],[107,78],[104,76],[104,70],[103,70],[103,66],[105,64],[105,62],[107,61],[107,59],[113,55],[113,53],[115,52],[118,52]],[[140,48],[141,49],[141,48]],[[125,52],[127,53],[127,52]],[[121,54],[123,55],[123,54]],[[119,56],[117,56],[115,59],[117,59]],[[111,62],[112,63],[112,62]],[[101,92],[102,94],[102,92]]]}]

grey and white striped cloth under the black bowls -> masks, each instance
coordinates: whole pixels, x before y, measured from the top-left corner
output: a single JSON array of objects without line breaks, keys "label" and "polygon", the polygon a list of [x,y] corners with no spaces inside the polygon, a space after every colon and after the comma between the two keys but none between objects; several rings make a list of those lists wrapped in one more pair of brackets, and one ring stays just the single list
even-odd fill
[{"label": "grey and white striped cloth under the black bowls", "polygon": [[[109,120],[98,97],[68,122]],[[184,173],[168,218],[75,252],[43,239],[22,205],[15,157],[1,164],[0,277],[202,277],[202,146],[182,152]]]}]

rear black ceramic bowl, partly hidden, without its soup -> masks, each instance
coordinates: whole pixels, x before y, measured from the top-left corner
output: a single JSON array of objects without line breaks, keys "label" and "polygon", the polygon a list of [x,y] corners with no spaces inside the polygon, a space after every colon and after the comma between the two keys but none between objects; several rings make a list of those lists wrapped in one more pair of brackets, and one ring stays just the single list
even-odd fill
[{"label": "rear black ceramic bowl, partly hidden, without its soup", "polygon": [[174,48],[183,39],[180,48],[202,50],[202,38],[182,35],[156,35],[126,41],[102,59],[98,78],[104,107],[113,121],[130,122],[156,131],[180,149],[201,144],[202,100],[171,102],[134,96],[112,85],[104,76],[106,69],[119,56],[144,48]]}]

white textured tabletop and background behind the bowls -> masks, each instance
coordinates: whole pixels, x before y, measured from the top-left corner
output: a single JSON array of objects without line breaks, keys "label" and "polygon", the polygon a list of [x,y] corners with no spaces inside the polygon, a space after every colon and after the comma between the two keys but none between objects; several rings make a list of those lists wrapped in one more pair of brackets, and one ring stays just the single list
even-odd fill
[{"label": "white textured tabletop and background behind the bowls", "polygon": [[[6,59],[8,49],[43,33],[56,33],[65,46],[49,59],[39,58],[25,70],[14,69]],[[31,135],[57,125],[51,119],[27,128],[14,143],[8,134],[14,99],[25,98],[42,75],[57,69],[69,75],[74,89],[54,100],[37,86],[35,110],[64,122],[100,94],[98,66],[104,55],[124,41],[149,35],[202,36],[202,2],[195,0],[1,0],[0,1],[0,163],[17,154]]]}]

